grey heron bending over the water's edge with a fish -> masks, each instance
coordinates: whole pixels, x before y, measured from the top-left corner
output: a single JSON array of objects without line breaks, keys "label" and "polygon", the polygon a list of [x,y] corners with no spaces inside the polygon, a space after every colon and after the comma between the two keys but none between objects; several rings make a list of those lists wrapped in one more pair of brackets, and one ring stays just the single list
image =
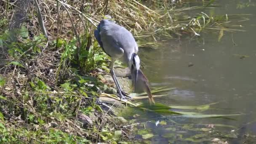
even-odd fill
[{"label": "grey heron bending over the water's edge with a fish", "polygon": [[121,100],[125,99],[114,72],[114,63],[117,59],[128,65],[131,75],[134,77],[134,86],[137,87],[137,77],[140,68],[140,59],[137,55],[138,45],[131,34],[124,27],[112,21],[103,19],[100,21],[94,36],[107,55],[111,57],[110,74],[115,82]]}]

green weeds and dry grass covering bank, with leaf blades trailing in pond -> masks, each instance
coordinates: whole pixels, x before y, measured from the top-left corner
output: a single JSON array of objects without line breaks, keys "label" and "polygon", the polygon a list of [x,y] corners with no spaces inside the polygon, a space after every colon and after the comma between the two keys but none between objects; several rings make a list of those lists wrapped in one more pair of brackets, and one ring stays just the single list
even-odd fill
[{"label": "green weeds and dry grass covering bank, with leaf blades trailing in pond", "polygon": [[[140,46],[163,37],[199,36],[206,29],[220,31],[221,39],[224,31],[237,30],[229,29],[229,16],[186,14],[213,2],[187,7],[186,0],[157,0],[150,6],[137,0],[0,0],[0,143],[135,141],[135,130],[112,111],[121,102],[104,77],[109,58],[93,38],[96,25],[108,14],[131,30]],[[209,107],[165,110],[170,108]]]}]

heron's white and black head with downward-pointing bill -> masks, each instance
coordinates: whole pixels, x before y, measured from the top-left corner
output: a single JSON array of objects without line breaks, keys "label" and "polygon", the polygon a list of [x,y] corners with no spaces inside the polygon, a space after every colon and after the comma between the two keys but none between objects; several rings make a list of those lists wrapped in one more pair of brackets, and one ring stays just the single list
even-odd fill
[{"label": "heron's white and black head with downward-pointing bill", "polygon": [[137,87],[138,71],[140,67],[140,59],[136,53],[133,53],[130,60],[131,76],[134,77],[135,88]]}]

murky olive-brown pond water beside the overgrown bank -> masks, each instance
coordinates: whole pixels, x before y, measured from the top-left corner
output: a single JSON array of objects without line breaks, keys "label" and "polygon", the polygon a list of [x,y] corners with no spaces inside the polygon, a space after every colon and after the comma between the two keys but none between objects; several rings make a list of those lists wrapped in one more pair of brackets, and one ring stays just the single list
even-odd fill
[{"label": "murky olive-brown pond water beside the overgrown bank", "polygon": [[[241,2],[250,5],[243,7]],[[202,113],[245,115],[229,118],[187,118],[135,111],[134,113],[141,115],[136,122],[151,121],[145,123],[145,128],[154,134],[151,139],[147,139],[152,143],[191,143],[193,140],[204,138],[227,139],[229,143],[242,143],[246,141],[245,134],[256,134],[256,122],[253,122],[256,121],[256,46],[253,43],[256,40],[256,1],[219,0],[216,3],[220,5],[219,8],[187,13],[190,16],[195,16],[195,12],[198,11],[228,15],[251,13],[251,16],[243,16],[250,19],[248,21],[229,19],[234,25],[242,25],[246,32],[224,32],[224,36],[218,42],[219,31],[211,31],[200,33],[200,37],[163,42],[163,47],[157,50],[140,48],[139,55],[145,63],[143,72],[152,87],[175,88],[167,92],[169,96],[156,98],[155,101],[159,103],[169,106],[198,106],[218,102]],[[191,4],[193,5],[196,4]],[[157,120],[165,121],[167,125],[156,126]],[[213,124],[214,129],[200,131],[200,128],[208,128],[211,125],[193,125],[193,130],[188,128],[189,125],[182,124]],[[234,127],[228,128],[217,124]]]}]

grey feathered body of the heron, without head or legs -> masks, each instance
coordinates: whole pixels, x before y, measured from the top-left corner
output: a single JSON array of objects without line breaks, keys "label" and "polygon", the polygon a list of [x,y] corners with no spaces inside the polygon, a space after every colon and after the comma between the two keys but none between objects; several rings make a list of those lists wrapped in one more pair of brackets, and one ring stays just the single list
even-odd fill
[{"label": "grey feathered body of the heron, without head or legs", "polygon": [[107,19],[100,21],[94,35],[105,53],[125,64],[128,64],[132,53],[138,52],[138,45],[131,32]]}]

